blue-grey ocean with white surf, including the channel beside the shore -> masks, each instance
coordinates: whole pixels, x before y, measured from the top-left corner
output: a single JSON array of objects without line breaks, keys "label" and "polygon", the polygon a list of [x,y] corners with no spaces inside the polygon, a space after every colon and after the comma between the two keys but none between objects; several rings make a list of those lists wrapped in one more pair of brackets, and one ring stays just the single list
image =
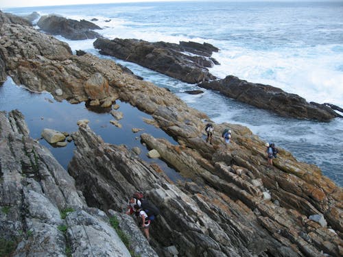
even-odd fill
[{"label": "blue-grey ocean with white surf, including the channel beside the shore", "polygon": [[[213,55],[220,65],[210,69],[217,77],[235,75],[282,88],[307,101],[343,108],[343,1],[182,1],[1,10],[18,15],[36,11],[76,20],[97,19],[94,23],[103,28],[97,32],[110,39],[208,42],[220,49]],[[115,60],[145,80],[169,88],[215,123],[246,125],[266,142],[291,151],[297,160],[318,165],[324,175],[343,186],[343,119],[320,123],[279,117],[137,64],[101,56],[93,47],[94,40],[56,37],[68,42],[73,51],[82,49]],[[183,93],[195,89],[204,93]],[[0,110],[15,107],[13,101],[0,101]]]}]

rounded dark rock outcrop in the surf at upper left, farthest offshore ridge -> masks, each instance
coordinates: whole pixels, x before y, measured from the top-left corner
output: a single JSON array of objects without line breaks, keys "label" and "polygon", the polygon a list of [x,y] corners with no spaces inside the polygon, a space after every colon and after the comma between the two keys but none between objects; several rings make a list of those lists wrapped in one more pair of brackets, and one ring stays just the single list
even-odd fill
[{"label": "rounded dark rock outcrop in the surf at upper left, farthest offshore ridge", "polygon": [[37,25],[47,33],[61,35],[64,36],[64,38],[71,40],[100,37],[100,35],[97,32],[93,32],[92,29],[101,29],[101,27],[86,20],[75,21],[66,19],[62,16],[45,15],[40,17]]}]

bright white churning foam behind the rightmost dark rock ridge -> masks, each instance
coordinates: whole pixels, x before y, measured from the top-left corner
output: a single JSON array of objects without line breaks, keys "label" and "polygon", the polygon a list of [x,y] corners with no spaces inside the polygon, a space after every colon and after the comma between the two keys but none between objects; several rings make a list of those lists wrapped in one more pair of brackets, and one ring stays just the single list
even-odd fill
[{"label": "bright white churning foam behind the rightmost dark rock ridge", "polygon": [[235,75],[249,82],[270,84],[318,103],[343,106],[343,60],[332,47],[261,51],[232,47],[214,53],[220,65],[210,69],[217,77]]}]

